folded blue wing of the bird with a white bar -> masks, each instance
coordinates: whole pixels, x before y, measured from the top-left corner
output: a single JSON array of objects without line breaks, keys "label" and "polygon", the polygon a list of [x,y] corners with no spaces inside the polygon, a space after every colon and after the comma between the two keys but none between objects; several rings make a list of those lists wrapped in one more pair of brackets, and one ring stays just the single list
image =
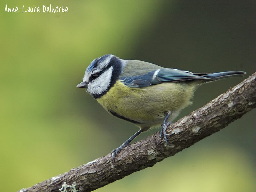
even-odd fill
[{"label": "folded blue wing of the bird with a white bar", "polygon": [[189,80],[212,81],[213,79],[201,76],[201,74],[195,75],[188,71],[161,68],[140,76],[123,76],[121,80],[124,85],[128,87],[141,88],[164,82],[180,82]]}]

